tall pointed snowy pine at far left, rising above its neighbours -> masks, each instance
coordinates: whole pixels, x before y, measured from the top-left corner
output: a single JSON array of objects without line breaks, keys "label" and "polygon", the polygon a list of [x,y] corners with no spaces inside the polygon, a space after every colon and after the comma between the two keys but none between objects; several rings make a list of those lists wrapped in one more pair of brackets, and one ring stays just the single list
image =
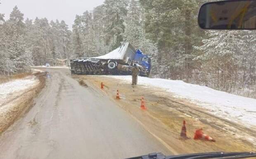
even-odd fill
[{"label": "tall pointed snowy pine at far left, rising above its neighbours", "polygon": [[31,65],[31,53],[25,43],[25,25],[23,14],[15,6],[9,20],[3,24],[3,43],[1,48],[7,53],[7,58],[12,61],[12,70],[9,73],[28,71]]}]

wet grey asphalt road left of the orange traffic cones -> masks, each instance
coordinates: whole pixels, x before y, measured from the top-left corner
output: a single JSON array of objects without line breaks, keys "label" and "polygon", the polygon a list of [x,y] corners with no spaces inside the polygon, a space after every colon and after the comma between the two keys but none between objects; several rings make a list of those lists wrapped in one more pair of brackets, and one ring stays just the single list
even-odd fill
[{"label": "wet grey asphalt road left of the orange traffic cones", "polygon": [[170,154],[122,108],[68,69],[49,72],[35,105],[0,136],[2,159],[122,159]]}]

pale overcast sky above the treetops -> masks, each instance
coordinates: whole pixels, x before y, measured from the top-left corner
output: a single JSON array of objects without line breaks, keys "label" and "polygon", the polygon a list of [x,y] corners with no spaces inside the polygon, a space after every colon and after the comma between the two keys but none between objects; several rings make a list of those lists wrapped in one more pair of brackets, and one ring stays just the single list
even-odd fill
[{"label": "pale overcast sky above the treetops", "polygon": [[0,13],[5,19],[15,5],[24,14],[24,19],[47,18],[51,20],[64,20],[71,29],[76,14],[81,15],[86,10],[103,4],[104,0],[0,0]]}]

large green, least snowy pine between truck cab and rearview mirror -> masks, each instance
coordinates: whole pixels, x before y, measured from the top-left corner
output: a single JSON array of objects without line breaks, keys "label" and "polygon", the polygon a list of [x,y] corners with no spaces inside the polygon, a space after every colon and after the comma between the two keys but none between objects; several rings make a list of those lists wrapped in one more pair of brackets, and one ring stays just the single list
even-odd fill
[{"label": "large green, least snowy pine between truck cab and rearview mirror", "polygon": [[[200,43],[201,33],[197,25],[200,0],[140,0],[143,23],[148,39],[157,44],[158,63],[166,70],[159,70],[164,78],[190,81],[196,65],[192,46]],[[167,61],[166,57],[172,57]],[[175,59],[175,60],[174,60]],[[162,73],[164,72],[164,73]]]}]

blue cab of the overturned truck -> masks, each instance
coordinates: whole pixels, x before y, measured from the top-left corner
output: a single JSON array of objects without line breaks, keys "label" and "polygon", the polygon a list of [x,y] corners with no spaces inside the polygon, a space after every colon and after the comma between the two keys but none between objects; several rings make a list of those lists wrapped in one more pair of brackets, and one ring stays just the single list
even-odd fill
[{"label": "blue cab of the overturned truck", "polygon": [[139,49],[136,51],[134,63],[141,66],[140,76],[148,77],[151,71],[151,59],[144,55]]}]

